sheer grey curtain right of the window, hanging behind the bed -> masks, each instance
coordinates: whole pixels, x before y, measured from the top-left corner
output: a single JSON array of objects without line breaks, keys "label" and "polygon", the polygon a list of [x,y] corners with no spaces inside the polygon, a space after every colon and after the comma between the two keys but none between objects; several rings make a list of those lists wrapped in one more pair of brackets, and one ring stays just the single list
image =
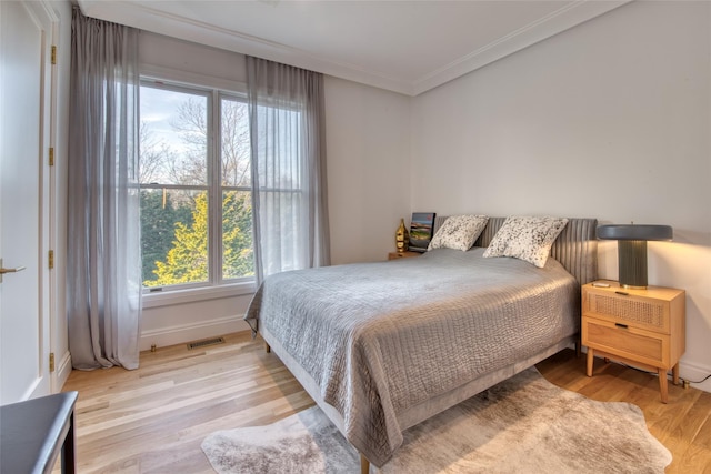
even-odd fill
[{"label": "sheer grey curtain right of the window, hanging behind the bed", "polygon": [[257,281],[330,264],[323,75],[247,57]]}]

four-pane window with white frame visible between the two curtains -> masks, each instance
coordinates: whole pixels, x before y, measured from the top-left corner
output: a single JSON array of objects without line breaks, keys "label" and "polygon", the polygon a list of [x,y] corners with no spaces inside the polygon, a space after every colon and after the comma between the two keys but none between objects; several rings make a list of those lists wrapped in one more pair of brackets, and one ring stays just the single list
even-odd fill
[{"label": "four-pane window with white frame visible between the two curtains", "polygon": [[244,97],[143,80],[140,102],[143,286],[157,292],[251,281]]}]

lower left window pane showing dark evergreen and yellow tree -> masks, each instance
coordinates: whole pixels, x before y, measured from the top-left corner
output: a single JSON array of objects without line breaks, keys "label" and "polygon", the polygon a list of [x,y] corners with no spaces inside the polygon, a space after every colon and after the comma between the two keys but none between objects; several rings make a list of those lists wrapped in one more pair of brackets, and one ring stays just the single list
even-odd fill
[{"label": "lower left window pane showing dark evergreen and yellow tree", "polygon": [[143,285],[208,281],[208,193],[141,190]]}]

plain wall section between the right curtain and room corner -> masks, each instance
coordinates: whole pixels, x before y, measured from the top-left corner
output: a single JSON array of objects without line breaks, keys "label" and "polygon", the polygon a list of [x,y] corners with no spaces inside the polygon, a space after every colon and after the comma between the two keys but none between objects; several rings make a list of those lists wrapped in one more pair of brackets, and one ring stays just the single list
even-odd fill
[{"label": "plain wall section between the right curtain and room corner", "polygon": [[385,260],[410,209],[410,98],[327,77],[331,263]]}]

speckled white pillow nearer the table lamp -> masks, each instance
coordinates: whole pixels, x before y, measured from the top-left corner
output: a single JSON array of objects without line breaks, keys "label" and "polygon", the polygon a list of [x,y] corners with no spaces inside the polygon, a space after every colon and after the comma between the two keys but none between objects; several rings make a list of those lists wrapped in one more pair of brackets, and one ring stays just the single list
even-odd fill
[{"label": "speckled white pillow nearer the table lamp", "polygon": [[565,218],[507,218],[483,256],[513,256],[542,269],[567,223]]}]

